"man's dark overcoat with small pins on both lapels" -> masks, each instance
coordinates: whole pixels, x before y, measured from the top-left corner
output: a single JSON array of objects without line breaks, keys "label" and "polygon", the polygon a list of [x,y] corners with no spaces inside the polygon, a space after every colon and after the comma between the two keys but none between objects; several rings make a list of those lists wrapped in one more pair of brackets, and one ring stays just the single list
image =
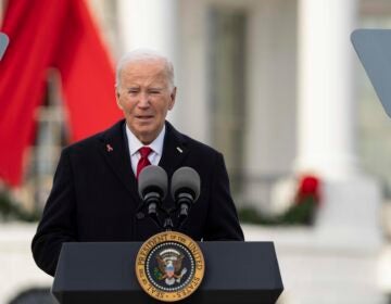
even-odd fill
[{"label": "man's dark overcoat with small pins on both lapels", "polygon": [[[142,213],[124,126],[125,121],[118,122],[62,151],[31,244],[46,273],[54,274],[63,242],[144,241],[162,231]],[[220,153],[166,123],[159,165],[168,178],[181,166],[200,174],[201,194],[181,232],[198,241],[243,240]],[[166,198],[164,205],[172,204]]]}]

